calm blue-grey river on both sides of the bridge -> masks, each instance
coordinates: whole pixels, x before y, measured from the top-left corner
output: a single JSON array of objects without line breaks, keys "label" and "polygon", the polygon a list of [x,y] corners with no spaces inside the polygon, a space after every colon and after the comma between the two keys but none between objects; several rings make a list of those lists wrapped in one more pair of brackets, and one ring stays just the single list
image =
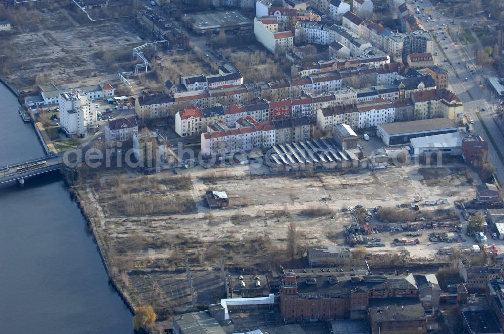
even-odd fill
[{"label": "calm blue-grey river on both sides of the bridge", "polygon": [[[0,166],[43,157],[0,84]],[[58,173],[0,188],[0,332],[132,333],[97,245]]]}]

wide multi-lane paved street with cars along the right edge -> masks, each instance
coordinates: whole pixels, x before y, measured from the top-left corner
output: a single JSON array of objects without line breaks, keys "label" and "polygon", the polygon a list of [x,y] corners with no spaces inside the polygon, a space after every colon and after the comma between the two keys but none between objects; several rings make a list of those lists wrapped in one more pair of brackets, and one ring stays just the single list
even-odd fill
[{"label": "wide multi-lane paved street with cars along the right edge", "polygon": [[[439,38],[437,39],[440,43],[439,45],[434,43],[434,51],[437,51],[438,53],[438,56],[435,57],[436,61],[439,65],[445,66],[448,70],[449,89],[464,102],[464,111],[468,119],[474,120],[474,130],[477,134],[480,134],[486,141],[488,141],[488,161],[495,166],[497,171],[496,174],[500,182],[504,182],[504,165],[498,158],[495,148],[491,144],[481,122],[476,116],[476,112],[480,111],[485,125],[491,131],[495,142],[504,143],[504,136],[502,136],[502,133],[497,128],[497,125],[491,116],[498,104],[498,100],[495,98],[494,94],[492,94],[491,89],[487,87],[486,82],[486,78],[488,76],[496,75],[496,73],[493,68],[485,68],[482,73],[481,67],[476,66],[474,62],[474,55],[476,49],[479,49],[480,45],[478,43],[464,46],[456,38],[456,31],[459,28],[462,29],[461,24],[464,21],[467,21],[470,26],[477,22],[478,18],[453,19],[445,17],[434,6],[432,6],[430,1],[427,0],[423,3],[420,3],[419,1],[413,3],[412,0],[408,0],[407,3],[413,8],[418,5],[421,8],[424,8],[425,11],[432,10],[434,12],[433,14],[426,14],[425,16],[423,16],[422,13],[417,15],[422,24],[425,26],[425,29],[434,29],[434,32],[438,34]],[[435,22],[426,21],[429,15]],[[454,23],[451,24],[450,22]],[[439,30],[439,28],[442,29]],[[451,30],[452,36],[456,39],[455,41],[451,40],[448,34],[448,29]],[[443,32],[445,32],[445,34],[443,34]],[[447,37],[446,40],[443,40],[443,36]],[[449,62],[444,62],[445,56],[441,50],[442,48]],[[471,73],[467,65],[471,68],[475,68],[476,70]],[[465,80],[466,78],[468,81]],[[482,89],[479,88],[480,82],[484,85],[484,88]],[[484,111],[482,111],[482,109],[484,109]]]}]

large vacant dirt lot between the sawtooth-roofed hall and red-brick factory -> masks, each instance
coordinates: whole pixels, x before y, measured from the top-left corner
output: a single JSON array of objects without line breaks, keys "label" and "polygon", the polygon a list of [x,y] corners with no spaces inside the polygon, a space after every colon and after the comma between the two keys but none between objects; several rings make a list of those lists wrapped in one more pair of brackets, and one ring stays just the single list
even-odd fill
[{"label": "large vacant dirt lot between the sawtooth-roofed hall and red-brick factory", "polygon": [[[178,175],[170,171],[151,176],[129,173],[113,179],[109,174],[93,177],[85,196],[96,209],[94,228],[106,245],[106,256],[114,270],[148,271],[122,275],[125,286],[137,296],[135,300],[148,298],[161,305],[161,300],[174,302],[172,298],[179,294],[177,305],[187,306],[190,300],[182,291],[185,288],[174,288],[180,285],[178,278],[163,274],[174,268],[182,270],[186,257],[193,270],[216,269],[221,257],[226,266],[247,270],[264,270],[268,264],[281,263],[302,266],[302,259],[294,263],[285,254],[291,222],[297,229],[299,254],[303,254],[308,245],[344,243],[344,226],[353,222],[342,210],[347,206],[396,209],[417,196],[431,201],[447,199],[448,204],[421,207],[424,214],[434,213],[453,209],[455,200],[475,196],[474,186],[467,182],[469,176],[475,184],[480,182],[477,174],[462,164],[428,171],[405,166],[344,175],[250,172],[257,170],[230,166],[180,170]],[[207,190],[226,191],[230,206],[209,209],[204,200]],[[433,257],[438,248],[451,245],[429,242],[430,232],[423,232],[419,245],[407,247],[412,256]],[[378,236],[386,247],[371,248],[370,252],[397,253],[404,248],[391,246],[402,234],[384,232]],[[471,242],[467,240],[463,246]],[[152,269],[160,272],[154,275]],[[142,278],[144,275],[148,276]],[[213,280],[218,278],[209,282]],[[156,295],[159,300],[153,299]],[[207,295],[200,301],[214,297]]]}]

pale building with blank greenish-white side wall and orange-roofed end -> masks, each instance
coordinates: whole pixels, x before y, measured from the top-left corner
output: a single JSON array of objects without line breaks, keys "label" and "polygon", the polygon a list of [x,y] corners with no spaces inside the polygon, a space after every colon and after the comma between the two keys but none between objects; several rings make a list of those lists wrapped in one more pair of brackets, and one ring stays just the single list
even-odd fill
[{"label": "pale building with blank greenish-white side wall and orange-roofed end", "polygon": [[[278,17],[277,22],[280,26]],[[257,18],[254,18],[254,35],[257,41],[273,54],[283,54],[292,50],[294,38],[290,31],[271,32]]]}]

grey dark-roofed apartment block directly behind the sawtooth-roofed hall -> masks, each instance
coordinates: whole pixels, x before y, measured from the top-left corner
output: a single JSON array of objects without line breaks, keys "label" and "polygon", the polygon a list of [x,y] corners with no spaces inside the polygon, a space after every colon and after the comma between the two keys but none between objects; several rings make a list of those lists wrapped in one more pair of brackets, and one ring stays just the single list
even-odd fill
[{"label": "grey dark-roofed apartment block directly behind the sawtooth-roofed hall", "polygon": [[307,116],[273,120],[275,145],[310,139],[310,120]]}]

